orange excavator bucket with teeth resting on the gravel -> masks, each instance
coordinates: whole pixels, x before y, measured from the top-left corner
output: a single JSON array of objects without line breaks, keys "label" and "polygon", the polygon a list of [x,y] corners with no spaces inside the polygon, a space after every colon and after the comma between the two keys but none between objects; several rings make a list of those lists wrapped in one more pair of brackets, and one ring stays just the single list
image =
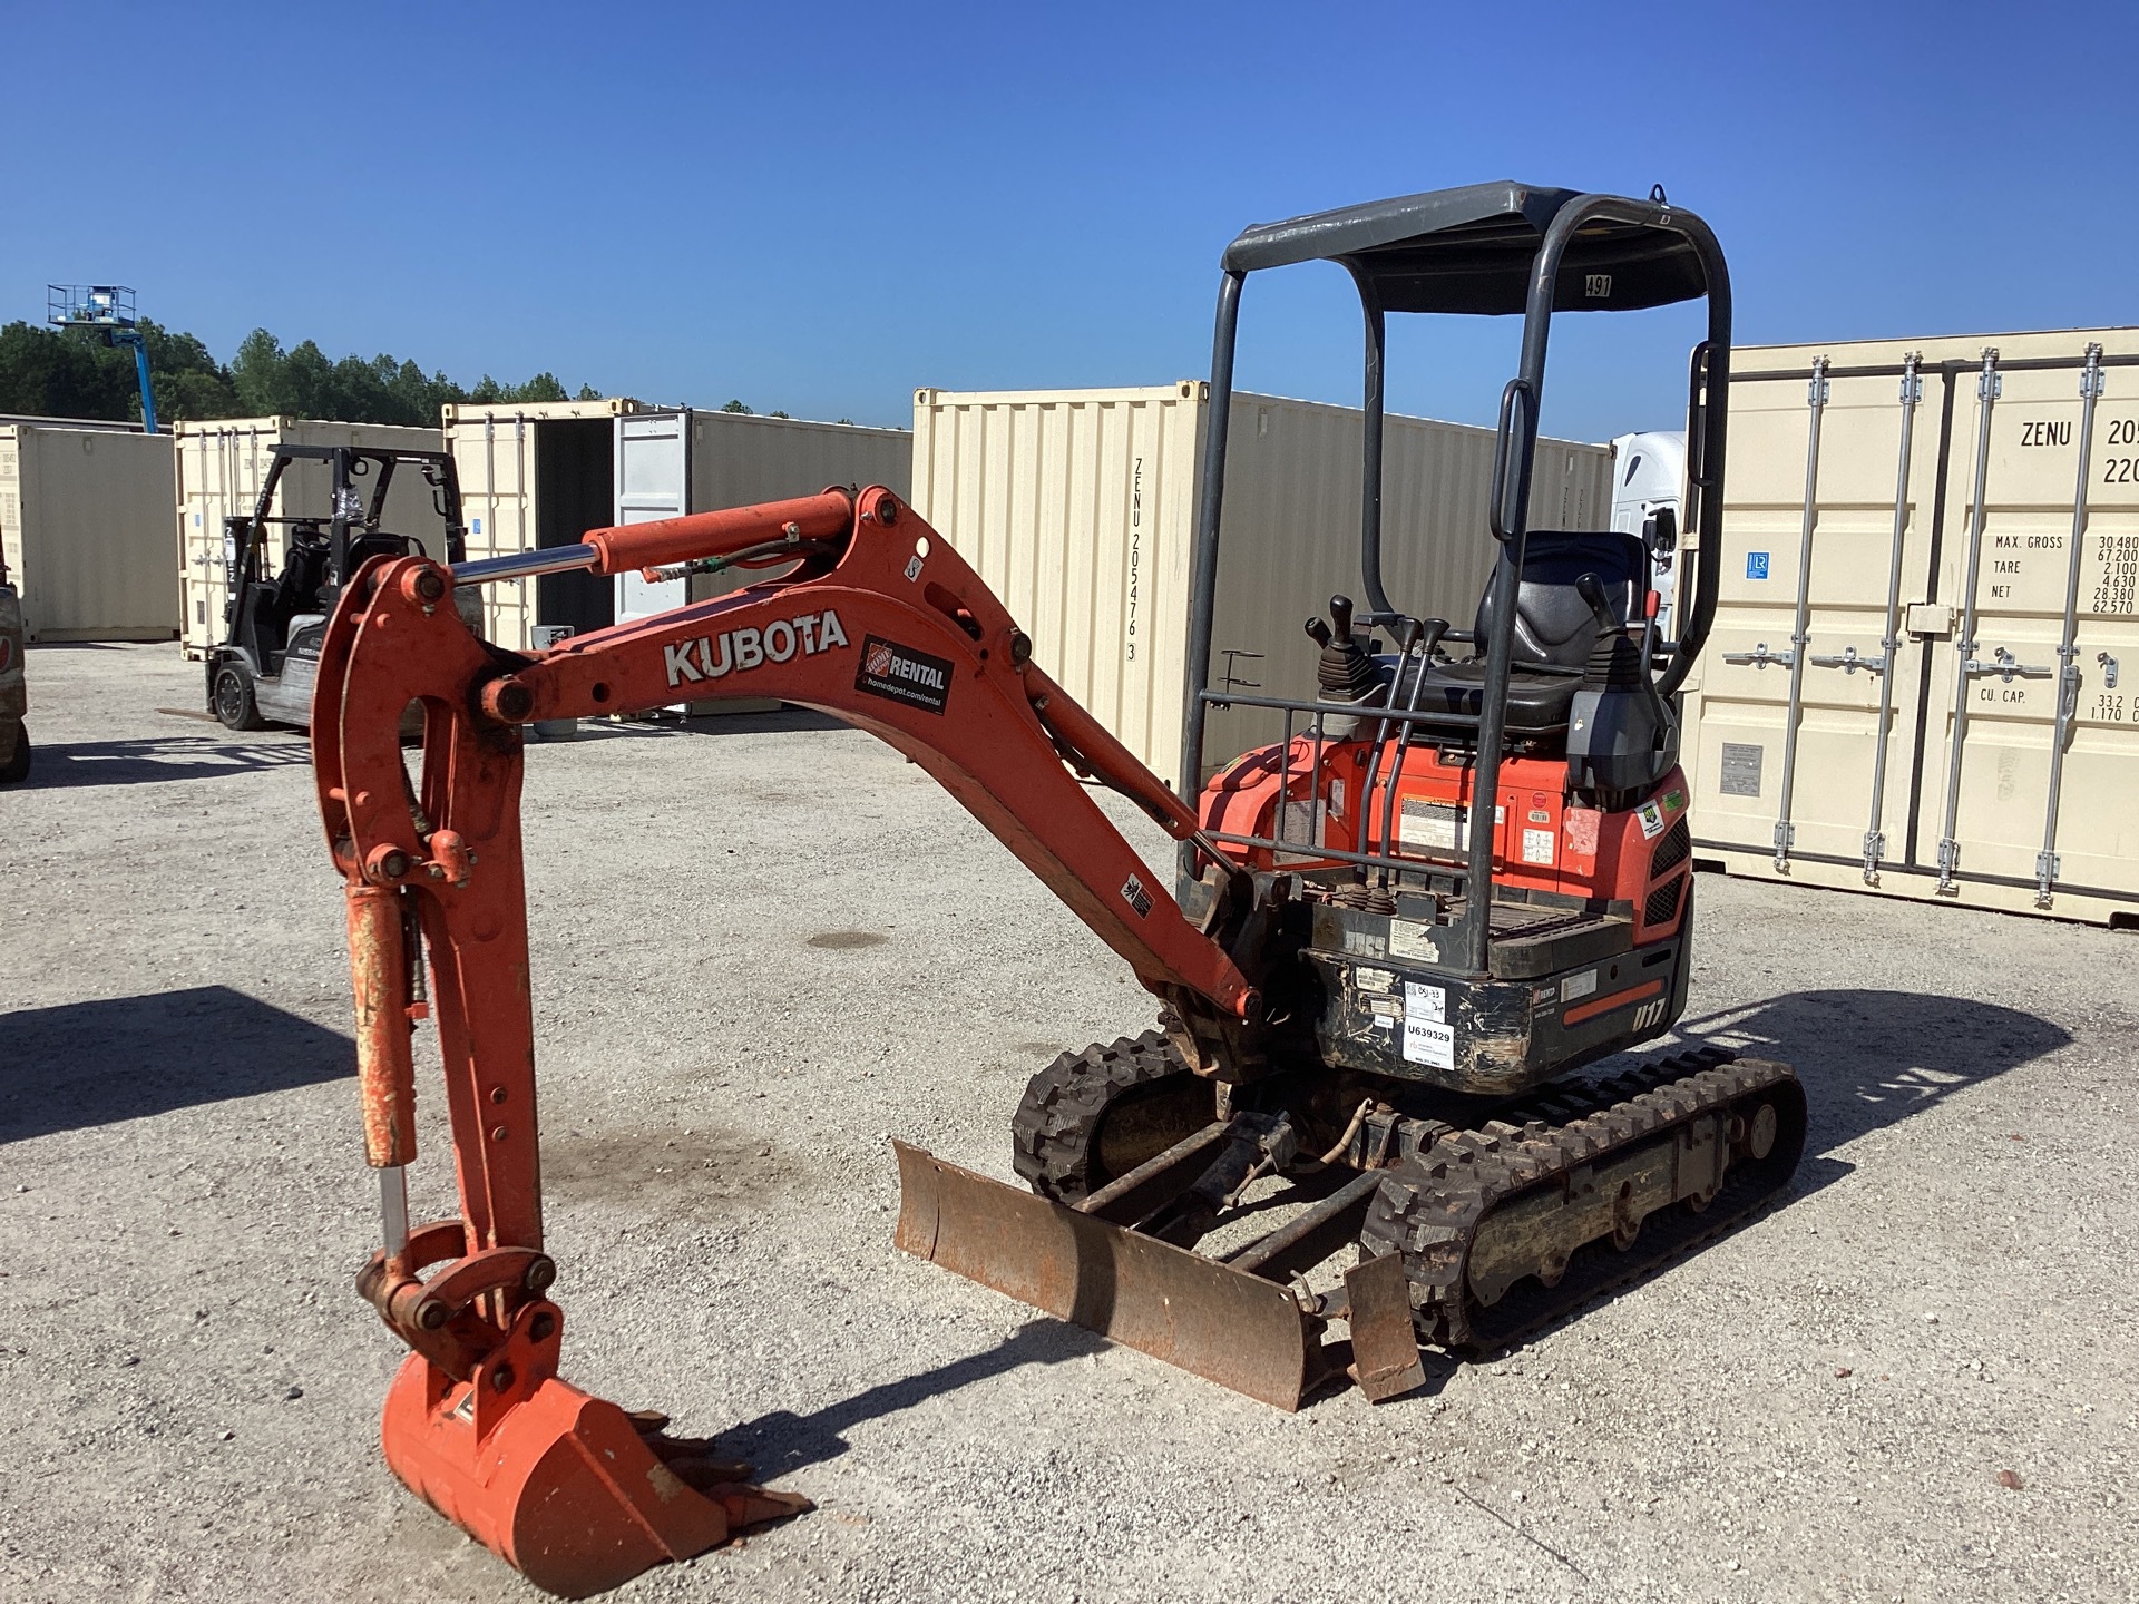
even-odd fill
[{"label": "orange excavator bucket with teeth resting on the gravel", "polygon": [[[492,1401],[492,1390],[503,1397]],[[492,1412],[494,1422],[483,1418]],[[560,1598],[603,1593],[811,1508],[747,1486],[749,1465],[678,1454],[659,1424],[554,1375],[520,1392],[505,1364],[456,1384],[413,1354],[387,1394],[381,1437],[411,1493]]]}]

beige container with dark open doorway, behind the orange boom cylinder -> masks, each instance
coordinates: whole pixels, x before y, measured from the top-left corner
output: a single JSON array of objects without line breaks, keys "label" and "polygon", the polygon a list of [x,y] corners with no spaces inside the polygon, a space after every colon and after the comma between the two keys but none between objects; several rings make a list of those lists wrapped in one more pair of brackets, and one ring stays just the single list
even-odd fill
[{"label": "beige container with dark open doorway, behind the orange boom cylinder", "polygon": [[[580,402],[447,406],[445,449],[460,473],[468,558],[575,545],[616,513],[616,419],[646,411],[614,396]],[[541,627],[582,633],[614,618],[612,584],[543,573],[483,586],[483,633],[515,652]]]}]

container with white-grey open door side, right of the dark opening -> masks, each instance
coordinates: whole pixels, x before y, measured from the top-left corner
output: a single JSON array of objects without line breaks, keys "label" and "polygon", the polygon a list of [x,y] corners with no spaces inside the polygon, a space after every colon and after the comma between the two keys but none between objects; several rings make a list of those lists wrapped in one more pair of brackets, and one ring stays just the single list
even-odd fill
[{"label": "container with white-grey open door side, right of the dark opening", "polygon": [[[883,485],[905,496],[913,481],[913,438],[905,430],[806,423],[751,413],[670,411],[616,419],[616,522],[646,524],[759,500],[815,496],[826,485]],[[734,590],[753,575],[693,575],[648,584],[614,582],[616,620],[644,618]],[[766,697],[693,701],[695,714],[768,712]]]}]

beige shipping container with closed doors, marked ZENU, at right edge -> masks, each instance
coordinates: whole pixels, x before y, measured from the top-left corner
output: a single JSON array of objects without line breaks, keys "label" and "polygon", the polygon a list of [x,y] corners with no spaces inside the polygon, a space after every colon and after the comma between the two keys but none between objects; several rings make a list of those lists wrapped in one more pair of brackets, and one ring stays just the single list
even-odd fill
[{"label": "beige shipping container with closed doors, marked ZENU, at right edge", "polygon": [[1722,584],[1686,699],[1696,851],[2139,924],[2139,329],[1733,368]]}]

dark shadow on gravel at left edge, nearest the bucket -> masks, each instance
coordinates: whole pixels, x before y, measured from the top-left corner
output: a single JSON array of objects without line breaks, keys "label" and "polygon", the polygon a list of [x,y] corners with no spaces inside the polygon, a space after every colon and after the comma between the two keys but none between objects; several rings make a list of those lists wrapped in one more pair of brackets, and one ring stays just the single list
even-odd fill
[{"label": "dark shadow on gravel at left edge, nearest the bucket", "polygon": [[353,1076],[347,1035],[229,986],[0,1014],[0,1142]]}]

